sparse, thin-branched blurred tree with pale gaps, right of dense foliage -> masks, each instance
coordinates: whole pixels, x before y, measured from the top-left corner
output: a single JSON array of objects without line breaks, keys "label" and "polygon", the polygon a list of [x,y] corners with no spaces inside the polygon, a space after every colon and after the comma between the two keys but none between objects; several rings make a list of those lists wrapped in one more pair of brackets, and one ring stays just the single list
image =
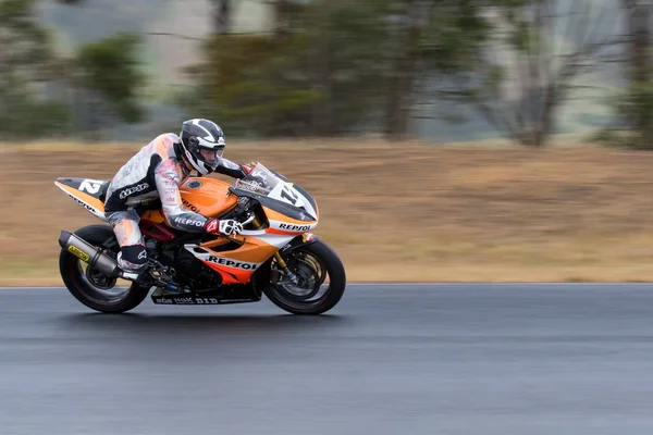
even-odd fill
[{"label": "sparse, thin-branched blurred tree with pale gaps, right of dense foliage", "polygon": [[543,147],[574,80],[596,72],[618,42],[617,20],[591,0],[490,0],[485,5],[482,16],[491,30],[482,44],[466,49],[468,62],[449,76],[445,95],[471,104],[505,137]]}]

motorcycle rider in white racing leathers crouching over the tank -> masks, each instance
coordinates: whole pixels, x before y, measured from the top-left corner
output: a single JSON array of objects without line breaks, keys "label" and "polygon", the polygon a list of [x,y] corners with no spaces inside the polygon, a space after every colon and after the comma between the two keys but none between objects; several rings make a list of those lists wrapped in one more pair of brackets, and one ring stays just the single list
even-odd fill
[{"label": "motorcycle rider in white racing leathers crouching over the tank", "polygon": [[222,128],[212,121],[184,121],[182,132],[156,137],[132,157],[113,177],[104,200],[104,214],[121,247],[118,264],[125,277],[148,279],[147,251],[138,222],[143,211],[160,199],[165,219],[173,228],[236,235],[243,225],[234,220],[206,217],[184,209],[180,185],[190,174],[212,172],[243,178],[249,166],[238,165],[222,157],[226,142]]}]

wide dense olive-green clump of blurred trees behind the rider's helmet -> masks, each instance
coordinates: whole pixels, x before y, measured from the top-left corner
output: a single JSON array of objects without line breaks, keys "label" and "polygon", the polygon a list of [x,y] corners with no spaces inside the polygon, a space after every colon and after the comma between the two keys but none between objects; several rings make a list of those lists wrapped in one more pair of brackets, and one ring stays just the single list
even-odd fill
[{"label": "wide dense olive-green clump of blurred trees behind the rider's helmet", "polygon": [[275,0],[273,35],[211,38],[182,101],[232,132],[409,136],[419,86],[482,39],[469,4]]}]

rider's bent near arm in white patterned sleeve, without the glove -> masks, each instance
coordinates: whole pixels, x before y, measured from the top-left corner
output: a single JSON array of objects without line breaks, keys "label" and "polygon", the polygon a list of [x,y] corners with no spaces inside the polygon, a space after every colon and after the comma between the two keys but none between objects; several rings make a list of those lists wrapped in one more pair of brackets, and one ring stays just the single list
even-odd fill
[{"label": "rider's bent near arm in white patterned sleeve, without the glove", "polygon": [[173,228],[190,233],[205,232],[209,219],[185,209],[182,204],[178,187],[181,175],[172,159],[159,163],[155,170],[155,183],[161,197],[163,214]]}]

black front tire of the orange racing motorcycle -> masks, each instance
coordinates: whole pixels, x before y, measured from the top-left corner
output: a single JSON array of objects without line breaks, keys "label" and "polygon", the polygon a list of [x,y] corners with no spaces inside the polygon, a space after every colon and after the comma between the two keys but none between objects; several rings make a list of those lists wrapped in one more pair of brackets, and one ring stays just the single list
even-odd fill
[{"label": "black front tire of the orange racing motorcycle", "polygon": [[[326,244],[317,240],[301,245],[288,253],[282,254],[288,269],[299,277],[293,285],[269,284],[263,293],[276,307],[293,314],[317,315],[331,310],[340,302],[347,278],[342,261]],[[272,269],[279,268],[273,262]],[[329,284],[323,284],[326,275]],[[316,296],[325,285],[324,293]]]}]

